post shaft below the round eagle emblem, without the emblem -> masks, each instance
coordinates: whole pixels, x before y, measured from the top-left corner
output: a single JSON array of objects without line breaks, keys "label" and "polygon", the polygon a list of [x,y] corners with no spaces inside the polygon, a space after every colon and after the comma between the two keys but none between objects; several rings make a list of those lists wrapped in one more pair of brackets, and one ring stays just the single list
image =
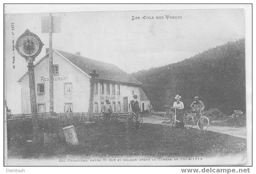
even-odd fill
[{"label": "post shaft below the round eagle emblem, without the emblem", "polygon": [[33,59],[29,59],[28,61],[28,70],[29,70],[29,92],[30,92],[30,105],[31,105],[31,119],[32,119],[32,127],[33,127],[33,142],[35,144],[39,144],[39,125],[38,125],[38,117],[37,117],[37,98],[35,91],[35,72],[34,72],[34,64]]}]

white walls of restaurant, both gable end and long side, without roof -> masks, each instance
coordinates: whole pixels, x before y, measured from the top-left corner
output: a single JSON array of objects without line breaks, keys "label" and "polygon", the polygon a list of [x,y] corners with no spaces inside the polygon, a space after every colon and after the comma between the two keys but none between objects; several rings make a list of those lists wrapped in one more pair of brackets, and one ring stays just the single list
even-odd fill
[{"label": "white walls of restaurant, both gable end and long side, without roof", "polygon": [[[53,76],[53,78],[60,78],[57,81],[54,81],[54,112],[63,113],[64,112],[64,103],[71,102],[73,103],[73,112],[87,112],[89,105],[89,77],[77,68],[75,68],[72,64],[66,61],[64,58],[60,57],[56,52],[53,51],[53,64],[58,64],[59,66],[59,75]],[[97,72],[96,72],[97,73]],[[41,79],[43,77],[44,79]],[[48,58],[43,59],[37,66],[35,66],[35,85],[37,91],[38,83],[45,84],[45,94],[38,95],[37,93],[37,104],[45,104],[46,112],[49,112],[49,81],[47,78],[49,77],[49,67],[48,67]],[[66,79],[61,80],[61,78],[65,77]],[[45,81],[46,80],[46,81]],[[64,83],[72,83],[72,93],[64,94]],[[110,94],[107,94],[107,83],[104,83],[104,94],[100,92],[100,81],[98,81],[98,93],[94,95],[94,103],[98,102],[98,111],[101,111],[101,102],[105,103],[106,97],[110,98],[111,106],[112,102],[116,103],[116,112],[117,112],[117,104],[120,102],[121,104],[121,112],[124,112],[124,97],[128,98],[128,110],[130,100],[133,99],[132,91],[134,91],[134,95],[138,95],[138,102],[140,103],[140,107],[142,110],[142,101],[141,98],[145,97],[141,96],[140,87],[132,86],[132,85],[123,85],[119,83],[109,82],[110,86]],[[115,85],[115,95],[112,94],[112,85]],[[120,85],[120,95],[117,94],[118,85]],[[24,76],[21,80],[21,90],[22,90],[22,113],[31,113],[30,108],[30,95],[29,95],[29,79],[28,74]],[[147,106],[149,104],[149,100],[143,101],[145,102],[145,110],[149,109]]]}]

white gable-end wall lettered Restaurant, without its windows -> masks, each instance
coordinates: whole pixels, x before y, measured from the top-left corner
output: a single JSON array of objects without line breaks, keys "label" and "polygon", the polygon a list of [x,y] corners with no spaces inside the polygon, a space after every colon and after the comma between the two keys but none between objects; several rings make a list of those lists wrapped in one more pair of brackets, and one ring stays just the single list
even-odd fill
[{"label": "white gable-end wall lettered Restaurant, without its windows", "polygon": [[[64,103],[73,103],[74,112],[87,112],[89,104],[89,77],[75,68],[68,61],[64,60],[60,55],[53,51],[53,64],[58,64],[59,75],[53,78],[60,78],[54,81],[54,112],[63,113]],[[35,85],[37,91],[38,83],[45,83],[45,94],[37,94],[37,103],[46,105],[46,112],[49,112],[49,81],[44,81],[41,77],[49,77],[48,58],[43,59],[35,66]],[[63,77],[68,77],[65,80]],[[64,94],[64,83],[72,83],[72,94]],[[22,112],[31,113],[30,95],[29,95],[29,79],[28,74],[21,80],[22,86]]]}]

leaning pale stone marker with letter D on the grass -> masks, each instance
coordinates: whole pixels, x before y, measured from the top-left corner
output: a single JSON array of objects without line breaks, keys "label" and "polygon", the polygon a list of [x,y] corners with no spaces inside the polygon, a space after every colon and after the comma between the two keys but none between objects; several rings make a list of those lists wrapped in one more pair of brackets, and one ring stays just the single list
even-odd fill
[{"label": "leaning pale stone marker with letter D on the grass", "polygon": [[78,145],[78,137],[76,136],[74,125],[63,127],[62,130],[68,145]]}]

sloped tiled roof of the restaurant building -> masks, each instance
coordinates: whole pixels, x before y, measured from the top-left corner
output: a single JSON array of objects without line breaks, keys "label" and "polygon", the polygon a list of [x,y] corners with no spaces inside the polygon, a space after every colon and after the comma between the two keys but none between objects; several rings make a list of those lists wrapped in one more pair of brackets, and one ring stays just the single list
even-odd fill
[{"label": "sloped tiled roof of the restaurant building", "polygon": [[[72,64],[77,66],[80,70],[82,70],[88,75],[92,73],[93,70],[96,70],[96,74],[99,74],[99,77],[96,77],[97,80],[113,81],[113,82],[128,83],[131,85],[142,86],[142,83],[140,83],[140,81],[132,77],[130,74],[127,74],[126,72],[124,72],[114,64],[96,61],[93,59],[89,59],[87,57],[82,57],[80,55],[68,53],[66,51],[61,51],[56,49],[54,49],[54,51],[56,51],[58,54],[60,54],[64,58],[68,59],[68,61],[70,61]],[[37,62],[37,64],[39,62]]]}]

